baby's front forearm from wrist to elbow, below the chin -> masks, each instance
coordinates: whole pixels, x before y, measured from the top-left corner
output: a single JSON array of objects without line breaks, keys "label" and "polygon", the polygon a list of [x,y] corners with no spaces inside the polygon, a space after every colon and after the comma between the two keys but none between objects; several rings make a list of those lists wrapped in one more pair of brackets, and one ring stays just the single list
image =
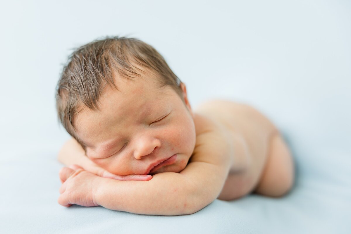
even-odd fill
[{"label": "baby's front forearm from wrist to elbow, below the chin", "polygon": [[201,189],[186,176],[173,172],[155,174],[150,181],[105,179],[97,191],[96,202],[108,209],[137,214],[192,214],[216,198]]}]

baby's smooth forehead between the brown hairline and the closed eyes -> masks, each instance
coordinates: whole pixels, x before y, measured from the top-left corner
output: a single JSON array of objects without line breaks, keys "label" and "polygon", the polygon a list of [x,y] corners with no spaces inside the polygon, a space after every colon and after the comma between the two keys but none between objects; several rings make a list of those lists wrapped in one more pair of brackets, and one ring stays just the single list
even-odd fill
[{"label": "baby's smooth forehead between the brown hairline and the closed eyes", "polygon": [[83,142],[103,142],[111,138],[109,132],[113,134],[113,131],[106,131],[111,126],[118,123],[120,128],[127,128],[141,123],[152,113],[168,108],[178,96],[171,87],[160,88],[144,78],[121,78],[116,86],[118,90],[107,86],[102,92],[98,110],[85,107],[74,118],[74,126]]}]

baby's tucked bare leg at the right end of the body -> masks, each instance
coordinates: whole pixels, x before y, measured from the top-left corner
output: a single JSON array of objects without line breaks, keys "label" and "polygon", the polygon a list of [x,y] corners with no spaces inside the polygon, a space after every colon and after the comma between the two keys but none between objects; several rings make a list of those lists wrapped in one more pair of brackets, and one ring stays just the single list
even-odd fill
[{"label": "baby's tucked bare leg at the right end of the body", "polygon": [[254,192],[265,196],[282,196],[294,183],[294,163],[282,136],[276,131],[269,143],[266,165]]}]

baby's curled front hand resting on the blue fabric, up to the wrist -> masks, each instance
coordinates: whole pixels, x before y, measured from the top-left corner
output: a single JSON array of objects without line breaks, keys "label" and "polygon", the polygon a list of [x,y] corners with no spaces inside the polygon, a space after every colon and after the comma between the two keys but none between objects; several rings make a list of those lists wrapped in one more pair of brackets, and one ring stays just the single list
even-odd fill
[{"label": "baby's curled front hand resting on the blue fabric, up to the wrist", "polygon": [[69,207],[73,204],[80,206],[98,206],[95,193],[102,178],[81,168],[73,170],[63,167],[60,170],[60,205]]}]

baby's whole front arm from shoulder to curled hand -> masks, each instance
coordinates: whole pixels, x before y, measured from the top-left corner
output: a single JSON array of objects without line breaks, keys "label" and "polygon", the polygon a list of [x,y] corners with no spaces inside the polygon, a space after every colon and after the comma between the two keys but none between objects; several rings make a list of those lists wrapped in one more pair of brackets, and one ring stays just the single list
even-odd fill
[{"label": "baby's whole front arm from shoulder to curled hand", "polygon": [[198,136],[194,154],[183,171],[155,174],[152,180],[146,182],[93,178],[84,171],[80,174],[70,172],[60,189],[59,203],[69,206],[72,201],[75,204],[78,204],[76,201],[86,201],[86,197],[72,198],[72,194],[82,194],[75,190],[80,189],[77,188],[81,184],[78,180],[84,181],[81,178],[87,176],[94,181],[88,183],[93,185],[90,190],[82,190],[91,199],[90,206],[100,205],[138,214],[192,214],[216,199],[224,185],[231,158],[228,156],[229,146],[222,140],[222,136],[213,132]]}]

